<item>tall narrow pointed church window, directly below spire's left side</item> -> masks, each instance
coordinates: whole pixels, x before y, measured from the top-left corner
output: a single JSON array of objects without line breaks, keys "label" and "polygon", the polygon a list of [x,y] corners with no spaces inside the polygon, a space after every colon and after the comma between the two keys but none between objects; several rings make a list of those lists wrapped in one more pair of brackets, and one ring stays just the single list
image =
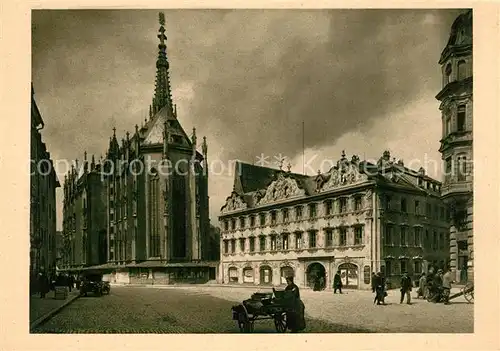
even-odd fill
[{"label": "tall narrow pointed church window, directly below spire's left side", "polygon": [[149,175],[149,257],[160,257],[160,225],[159,225],[159,177],[155,168],[152,168]]}]

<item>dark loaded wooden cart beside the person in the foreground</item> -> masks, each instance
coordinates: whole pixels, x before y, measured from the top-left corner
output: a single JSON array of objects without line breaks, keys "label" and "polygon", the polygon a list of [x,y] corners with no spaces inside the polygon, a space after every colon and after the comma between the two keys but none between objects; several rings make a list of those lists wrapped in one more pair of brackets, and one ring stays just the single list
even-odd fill
[{"label": "dark loaded wooden cart beside the person in the foreground", "polygon": [[[300,307],[303,304],[299,300]],[[290,323],[289,316],[302,319],[299,324],[304,324],[303,313],[297,313],[297,301],[285,297],[283,291],[274,293],[255,293],[250,299],[231,308],[233,320],[238,324],[238,328],[243,333],[251,333],[254,330],[255,321],[270,320],[274,321],[274,326],[278,333],[285,333],[287,329],[295,329]],[[303,329],[303,328],[300,328]]]}]

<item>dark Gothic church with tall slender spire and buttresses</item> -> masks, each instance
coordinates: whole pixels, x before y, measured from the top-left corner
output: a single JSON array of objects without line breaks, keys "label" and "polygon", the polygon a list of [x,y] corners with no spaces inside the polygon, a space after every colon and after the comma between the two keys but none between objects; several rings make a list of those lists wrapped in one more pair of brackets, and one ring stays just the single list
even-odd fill
[{"label": "dark Gothic church with tall slender spire and buttresses", "polygon": [[[158,38],[149,118],[120,141],[114,130],[95,169],[103,202],[103,210],[96,214],[103,224],[95,242],[105,263],[88,264],[107,271],[110,280],[119,283],[216,280],[218,262],[210,250],[208,146],[205,137],[198,140],[195,129],[188,136],[177,119],[163,14]],[[78,203],[81,206],[82,201]],[[75,264],[80,264],[78,255]]]}]

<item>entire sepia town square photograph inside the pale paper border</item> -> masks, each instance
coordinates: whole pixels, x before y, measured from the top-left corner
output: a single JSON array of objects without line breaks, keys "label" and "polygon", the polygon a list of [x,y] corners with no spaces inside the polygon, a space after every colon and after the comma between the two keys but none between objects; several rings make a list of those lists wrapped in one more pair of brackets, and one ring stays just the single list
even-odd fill
[{"label": "entire sepia town square photograph inside the pale paper border", "polygon": [[474,333],[473,16],[33,9],[29,332]]}]

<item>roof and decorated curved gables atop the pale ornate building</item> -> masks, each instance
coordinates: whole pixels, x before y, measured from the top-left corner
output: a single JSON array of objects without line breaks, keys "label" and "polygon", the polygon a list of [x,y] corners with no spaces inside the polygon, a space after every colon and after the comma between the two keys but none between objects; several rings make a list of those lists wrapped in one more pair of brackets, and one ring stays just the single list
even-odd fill
[{"label": "roof and decorated curved gables atop the pale ornate building", "polygon": [[372,181],[401,190],[413,189],[427,194],[437,194],[432,189],[428,190],[420,186],[417,179],[440,185],[440,182],[426,176],[423,169],[414,171],[405,167],[402,161],[391,161],[388,151],[384,152],[384,156],[377,164],[359,161],[357,156],[348,160],[343,154],[337,165],[328,172],[315,176],[238,161],[235,165],[233,193],[228,197],[221,211],[227,213],[238,209],[253,208],[274,201],[282,202],[286,199],[315,195],[318,192],[335,191],[351,185],[370,184]]}]

